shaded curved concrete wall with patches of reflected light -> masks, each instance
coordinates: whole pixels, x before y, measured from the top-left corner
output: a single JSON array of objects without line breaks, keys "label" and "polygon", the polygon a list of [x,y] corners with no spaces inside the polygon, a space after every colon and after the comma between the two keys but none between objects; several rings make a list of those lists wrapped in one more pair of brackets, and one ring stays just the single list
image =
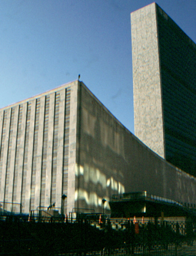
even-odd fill
[{"label": "shaded curved concrete wall with patches of reflected light", "polygon": [[82,83],[75,202],[102,212],[113,194],[147,191],[196,203],[196,178],[180,171],[127,130]]}]

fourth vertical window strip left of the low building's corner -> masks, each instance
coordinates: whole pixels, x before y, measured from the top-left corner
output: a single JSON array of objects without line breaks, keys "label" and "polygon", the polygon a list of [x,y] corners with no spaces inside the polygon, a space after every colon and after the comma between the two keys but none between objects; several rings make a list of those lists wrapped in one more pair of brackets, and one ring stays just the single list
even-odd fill
[{"label": "fourth vertical window strip left of the low building's corner", "polygon": [[34,125],[34,138],[33,138],[33,160],[31,171],[31,198],[30,209],[34,209],[35,200],[35,178],[36,178],[36,162],[37,162],[37,149],[38,149],[38,129],[39,129],[39,117],[40,117],[40,98],[36,99],[36,111],[35,111],[35,125]]}]

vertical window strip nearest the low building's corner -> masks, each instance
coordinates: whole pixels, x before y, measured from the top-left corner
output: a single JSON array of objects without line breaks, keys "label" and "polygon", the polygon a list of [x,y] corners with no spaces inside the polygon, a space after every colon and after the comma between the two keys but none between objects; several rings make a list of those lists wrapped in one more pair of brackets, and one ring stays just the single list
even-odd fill
[{"label": "vertical window strip nearest the low building's corner", "polygon": [[[67,195],[68,182],[68,157],[69,157],[69,120],[70,120],[70,96],[71,90],[65,89],[65,115],[64,115],[64,152],[63,152],[63,170],[62,170],[62,195]],[[64,206],[67,208],[67,205]],[[64,208],[64,212],[65,212]]]}]

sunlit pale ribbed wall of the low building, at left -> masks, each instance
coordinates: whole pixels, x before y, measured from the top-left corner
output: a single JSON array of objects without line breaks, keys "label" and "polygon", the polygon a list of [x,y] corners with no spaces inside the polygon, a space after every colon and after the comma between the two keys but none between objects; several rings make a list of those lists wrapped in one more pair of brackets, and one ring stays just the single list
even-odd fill
[{"label": "sunlit pale ribbed wall of the low building, at left", "polygon": [[0,201],[74,207],[78,81],[0,109]]}]

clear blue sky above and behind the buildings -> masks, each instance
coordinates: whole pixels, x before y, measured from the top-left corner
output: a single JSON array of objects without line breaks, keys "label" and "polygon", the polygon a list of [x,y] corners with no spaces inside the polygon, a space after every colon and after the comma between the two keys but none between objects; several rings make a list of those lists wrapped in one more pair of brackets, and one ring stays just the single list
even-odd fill
[{"label": "clear blue sky above and behind the buildings", "polygon": [[[0,108],[78,78],[134,133],[130,13],[151,0],[0,0]],[[156,3],[196,42],[196,0]]]}]

